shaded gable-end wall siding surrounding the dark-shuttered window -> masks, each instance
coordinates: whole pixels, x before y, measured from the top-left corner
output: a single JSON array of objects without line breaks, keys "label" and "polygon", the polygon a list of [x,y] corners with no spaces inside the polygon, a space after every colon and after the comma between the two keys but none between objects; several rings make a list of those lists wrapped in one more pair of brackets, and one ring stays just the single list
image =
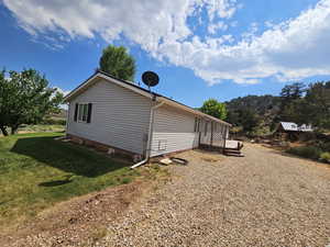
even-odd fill
[{"label": "shaded gable-end wall siding surrounding the dark-shuttered window", "polygon": [[[92,103],[90,123],[74,122],[76,103]],[[69,103],[68,134],[144,154],[151,100],[100,80]]]}]

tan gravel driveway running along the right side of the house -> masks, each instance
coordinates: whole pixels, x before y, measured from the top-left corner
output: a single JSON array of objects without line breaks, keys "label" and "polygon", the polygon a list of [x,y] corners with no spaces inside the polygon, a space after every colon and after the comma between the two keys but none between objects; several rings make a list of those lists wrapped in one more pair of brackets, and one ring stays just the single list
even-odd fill
[{"label": "tan gravel driveway running along the right side of the house", "polygon": [[[326,246],[330,168],[254,145],[245,158],[199,151],[108,226],[96,246]],[[217,157],[217,156],[215,156]]]}]

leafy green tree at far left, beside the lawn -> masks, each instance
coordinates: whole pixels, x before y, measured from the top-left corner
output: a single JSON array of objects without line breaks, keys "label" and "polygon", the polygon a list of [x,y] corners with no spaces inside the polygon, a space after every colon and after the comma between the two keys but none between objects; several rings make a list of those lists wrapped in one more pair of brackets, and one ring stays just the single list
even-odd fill
[{"label": "leafy green tree at far left, beside the lawn", "polygon": [[21,124],[37,124],[46,114],[59,111],[63,94],[48,88],[45,76],[34,69],[21,72],[6,71],[0,74],[0,130],[8,135],[16,133]]}]

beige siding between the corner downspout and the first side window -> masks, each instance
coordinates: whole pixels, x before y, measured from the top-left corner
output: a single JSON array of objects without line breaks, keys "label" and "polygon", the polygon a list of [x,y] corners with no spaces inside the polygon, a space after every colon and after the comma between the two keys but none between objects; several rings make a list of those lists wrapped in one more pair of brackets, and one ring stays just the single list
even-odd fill
[{"label": "beige siding between the corner downspout and the first side window", "polygon": [[194,114],[168,105],[156,109],[151,156],[197,147],[198,133],[194,126]]}]

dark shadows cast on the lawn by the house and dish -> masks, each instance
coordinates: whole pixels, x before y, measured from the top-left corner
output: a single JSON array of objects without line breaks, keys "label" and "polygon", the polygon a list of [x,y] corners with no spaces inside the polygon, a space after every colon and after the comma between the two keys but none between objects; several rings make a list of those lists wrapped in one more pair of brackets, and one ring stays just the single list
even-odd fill
[{"label": "dark shadows cast on the lawn by the house and dish", "polygon": [[[54,136],[19,138],[10,151],[29,156],[42,162],[41,165],[89,178],[127,166],[86,147],[54,141]],[[57,181],[57,183],[61,183],[61,181]],[[44,183],[44,186],[50,184],[56,186],[56,181]]]}]

